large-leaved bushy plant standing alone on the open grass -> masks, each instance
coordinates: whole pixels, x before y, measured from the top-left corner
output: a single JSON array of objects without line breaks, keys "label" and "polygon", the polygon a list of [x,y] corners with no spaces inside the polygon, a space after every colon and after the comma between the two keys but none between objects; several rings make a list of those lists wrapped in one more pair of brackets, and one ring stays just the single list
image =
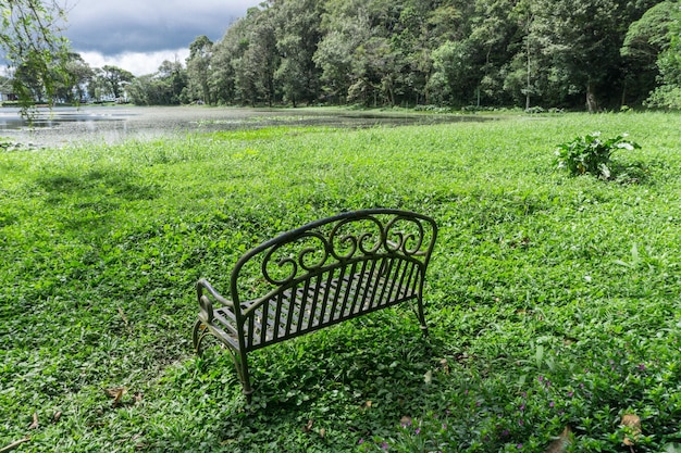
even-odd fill
[{"label": "large-leaved bushy plant standing alone on the open grass", "polygon": [[633,150],[641,147],[627,140],[627,134],[607,140],[600,133],[577,137],[558,146],[556,151],[558,168],[568,168],[571,175],[591,174],[609,179],[612,174],[610,156],[619,149]]}]

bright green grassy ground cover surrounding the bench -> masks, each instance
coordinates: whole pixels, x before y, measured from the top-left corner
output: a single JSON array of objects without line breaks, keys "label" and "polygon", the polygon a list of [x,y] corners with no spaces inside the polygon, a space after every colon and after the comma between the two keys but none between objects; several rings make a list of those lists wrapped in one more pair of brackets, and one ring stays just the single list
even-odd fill
[{"label": "bright green grassy ground cover surrounding the bench", "polygon": [[[567,451],[681,443],[678,114],[273,127],[0,150],[0,449]],[[619,183],[554,167],[558,143],[628,133]],[[435,217],[428,340],[408,307],[251,354],[197,358],[194,284],[364,207]],[[117,404],[106,389],[124,387]],[[37,427],[33,426],[34,414]],[[408,417],[408,418],[407,418]],[[674,450],[669,450],[674,451]],[[677,450],[678,451],[678,450]]]}]

